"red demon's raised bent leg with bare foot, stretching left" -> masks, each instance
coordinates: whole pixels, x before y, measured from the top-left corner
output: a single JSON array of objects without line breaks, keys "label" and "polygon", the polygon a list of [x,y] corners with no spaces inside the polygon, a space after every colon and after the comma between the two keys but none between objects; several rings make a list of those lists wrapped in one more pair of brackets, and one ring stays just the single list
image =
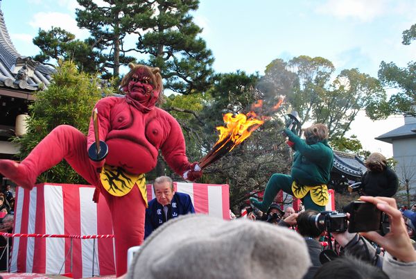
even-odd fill
[{"label": "red demon's raised bent leg with bare foot, stretching left", "polygon": [[68,125],[53,129],[20,164],[12,160],[0,160],[0,173],[17,185],[32,189],[37,176],[62,159],[67,160],[85,180],[96,185],[98,175],[89,163],[87,138]]}]

